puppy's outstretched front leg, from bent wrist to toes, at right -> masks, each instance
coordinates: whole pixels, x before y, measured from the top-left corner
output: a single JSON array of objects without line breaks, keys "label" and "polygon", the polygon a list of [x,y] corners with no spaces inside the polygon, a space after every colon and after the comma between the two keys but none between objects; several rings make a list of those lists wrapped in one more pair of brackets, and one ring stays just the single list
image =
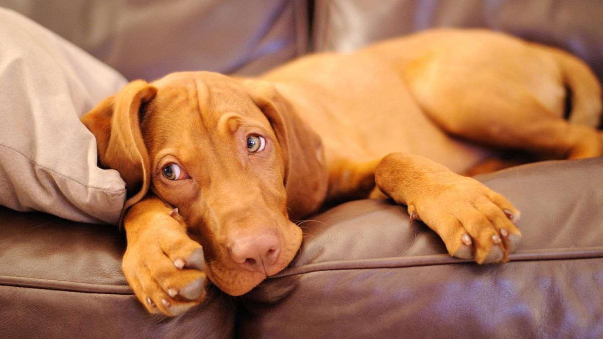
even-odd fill
[{"label": "puppy's outstretched front leg, from bent wrist to toes, at right", "polygon": [[479,264],[505,262],[521,238],[519,211],[482,183],[425,157],[385,156],[377,166],[379,189],[443,239],[450,255]]}]

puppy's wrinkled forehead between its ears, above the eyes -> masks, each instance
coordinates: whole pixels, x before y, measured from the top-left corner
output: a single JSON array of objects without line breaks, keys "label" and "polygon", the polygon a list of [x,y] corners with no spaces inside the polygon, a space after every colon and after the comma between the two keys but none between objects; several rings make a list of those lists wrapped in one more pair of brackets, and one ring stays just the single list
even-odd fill
[{"label": "puppy's wrinkled forehead between its ears, above the eyes", "polygon": [[142,109],[145,142],[166,145],[172,144],[174,136],[188,140],[206,138],[239,117],[260,124],[267,122],[241,83],[226,75],[182,72],[151,84],[157,87],[157,95]]}]

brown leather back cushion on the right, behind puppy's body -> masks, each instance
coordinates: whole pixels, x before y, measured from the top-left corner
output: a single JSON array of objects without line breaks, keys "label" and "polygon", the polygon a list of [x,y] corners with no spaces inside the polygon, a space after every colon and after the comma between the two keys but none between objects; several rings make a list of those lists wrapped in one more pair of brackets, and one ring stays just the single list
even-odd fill
[{"label": "brown leather back cushion on the right, behind puppy's body", "polygon": [[557,46],[603,78],[600,1],[372,0],[316,1],[315,51],[351,51],[433,27],[482,27]]}]

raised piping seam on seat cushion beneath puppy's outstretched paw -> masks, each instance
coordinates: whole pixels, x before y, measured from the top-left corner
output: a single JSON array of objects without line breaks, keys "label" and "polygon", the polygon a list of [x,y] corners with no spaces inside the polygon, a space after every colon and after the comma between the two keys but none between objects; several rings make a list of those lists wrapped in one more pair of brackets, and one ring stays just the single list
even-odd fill
[{"label": "raised piping seam on seat cushion beneath puppy's outstretched paw", "polygon": [[[552,253],[553,250],[557,250],[557,252]],[[584,247],[581,249],[569,248],[523,250],[516,251],[515,253],[509,255],[509,262],[505,265],[508,265],[511,262],[520,261],[555,261],[596,258],[603,258],[603,247]],[[288,270],[285,270],[282,273],[268,277],[268,279],[295,276],[298,274],[312,273],[318,271],[371,270],[375,268],[404,268],[467,263],[473,264],[474,261],[472,259],[452,258],[447,254],[377,259],[358,259],[352,261],[326,261],[289,268]]]}]

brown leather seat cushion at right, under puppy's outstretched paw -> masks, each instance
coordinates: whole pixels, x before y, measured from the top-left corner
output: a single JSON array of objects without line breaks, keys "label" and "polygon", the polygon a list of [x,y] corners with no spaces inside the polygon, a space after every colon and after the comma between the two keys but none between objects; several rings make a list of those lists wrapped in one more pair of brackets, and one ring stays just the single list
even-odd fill
[{"label": "brown leather seat cushion at right, under puppy's outstretched paw", "polygon": [[361,200],[301,224],[291,268],[241,298],[250,337],[601,337],[603,157],[479,177],[522,212],[510,262],[450,258],[404,206]]}]

